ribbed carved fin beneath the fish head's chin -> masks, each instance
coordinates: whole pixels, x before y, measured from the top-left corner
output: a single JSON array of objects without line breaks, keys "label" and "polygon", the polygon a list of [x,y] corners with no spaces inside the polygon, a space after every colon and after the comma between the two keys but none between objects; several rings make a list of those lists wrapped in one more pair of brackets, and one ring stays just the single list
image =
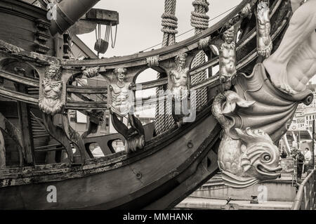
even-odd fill
[{"label": "ribbed carved fin beneath the fish head's chin", "polygon": [[222,178],[226,186],[233,188],[246,188],[259,182],[257,178],[243,178],[226,171],[222,171]]}]

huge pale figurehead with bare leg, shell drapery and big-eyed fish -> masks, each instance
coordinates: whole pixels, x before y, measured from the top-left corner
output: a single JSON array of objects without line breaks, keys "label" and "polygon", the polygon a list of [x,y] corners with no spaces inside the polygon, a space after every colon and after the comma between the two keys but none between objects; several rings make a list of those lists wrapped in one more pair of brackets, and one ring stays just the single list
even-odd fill
[{"label": "huge pale figurehead with bare leg, shell drapery and big-eyed fish", "polygon": [[294,14],[277,51],[216,96],[223,126],[218,163],[226,185],[247,187],[279,176],[276,143],[299,103],[312,102],[306,84],[316,74],[316,0],[291,0]]}]

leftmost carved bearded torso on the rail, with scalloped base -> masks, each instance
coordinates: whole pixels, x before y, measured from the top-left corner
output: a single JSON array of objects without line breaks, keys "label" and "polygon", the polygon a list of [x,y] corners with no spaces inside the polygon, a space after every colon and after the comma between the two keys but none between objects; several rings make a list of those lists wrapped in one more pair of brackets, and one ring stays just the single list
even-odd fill
[{"label": "leftmost carved bearded torso on the rail, with scalloped base", "polygon": [[60,65],[46,68],[45,77],[41,82],[43,97],[39,99],[39,108],[46,114],[54,115],[65,105],[61,100],[62,81]]}]

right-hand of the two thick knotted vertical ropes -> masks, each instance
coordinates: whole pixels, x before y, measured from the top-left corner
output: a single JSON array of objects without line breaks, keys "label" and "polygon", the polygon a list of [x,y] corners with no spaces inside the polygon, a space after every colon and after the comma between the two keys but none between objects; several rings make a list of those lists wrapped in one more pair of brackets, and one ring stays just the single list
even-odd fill
[{"label": "right-hand of the two thick knotted vertical ropes", "polygon": [[[209,27],[209,15],[206,15],[209,11],[209,2],[207,0],[195,0],[192,5],[195,7],[195,11],[191,12],[191,25],[195,27],[195,34],[199,34]],[[197,65],[204,62],[205,54],[203,51],[199,51],[192,62],[192,67],[197,67]],[[200,72],[192,77],[192,84],[197,84],[205,79],[207,79],[206,71]],[[202,88],[197,91],[195,105],[196,107],[202,107],[206,102],[207,88]],[[192,108],[192,110],[196,110],[196,108]]]}]

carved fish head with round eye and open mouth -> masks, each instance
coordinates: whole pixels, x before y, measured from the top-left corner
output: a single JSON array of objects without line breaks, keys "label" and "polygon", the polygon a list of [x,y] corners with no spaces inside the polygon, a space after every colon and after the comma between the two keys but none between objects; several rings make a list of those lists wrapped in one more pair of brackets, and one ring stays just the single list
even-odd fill
[{"label": "carved fish head with round eye and open mouth", "polygon": [[241,166],[244,175],[258,180],[273,180],[280,175],[279,150],[270,136],[260,129],[236,129],[242,140]]}]

